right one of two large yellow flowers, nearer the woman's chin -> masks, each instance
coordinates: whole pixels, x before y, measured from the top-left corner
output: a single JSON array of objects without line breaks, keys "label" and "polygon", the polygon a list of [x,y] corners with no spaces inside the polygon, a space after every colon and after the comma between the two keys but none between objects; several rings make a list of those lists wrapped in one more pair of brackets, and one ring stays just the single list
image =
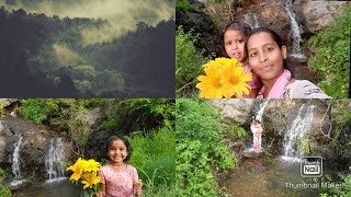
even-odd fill
[{"label": "right one of two large yellow flowers, nearer the woman's chin", "polygon": [[236,97],[241,99],[242,93],[250,93],[249,81],[252,80],[251,73],[245,73],[241,65],[230,65],[220,70],[223,83],[229,91],[229,95],[236,95]]}]

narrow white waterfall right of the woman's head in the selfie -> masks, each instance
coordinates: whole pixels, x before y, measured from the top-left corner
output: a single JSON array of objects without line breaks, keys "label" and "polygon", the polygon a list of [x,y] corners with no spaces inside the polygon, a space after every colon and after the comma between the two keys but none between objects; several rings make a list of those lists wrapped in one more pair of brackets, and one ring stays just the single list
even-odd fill
[{"label": "narrow white waterfall right of the woman's head in the selfie", "polygon": [[291,21],[291,33],[292,33],[292,39],[293,39],[293,55],[292,56],[305,57],[301,53],[299,44],[303,42],[303,39],[301,38],[299,27],[298,27],[298,24],[297,24],[297,22],[295,20],[295,13],[293,13],[291,11],[291,5],[292,5],[292,2],[288,1],[286,3],[285,10],[286,10],[287,15],[288,15],[290,21]]}]

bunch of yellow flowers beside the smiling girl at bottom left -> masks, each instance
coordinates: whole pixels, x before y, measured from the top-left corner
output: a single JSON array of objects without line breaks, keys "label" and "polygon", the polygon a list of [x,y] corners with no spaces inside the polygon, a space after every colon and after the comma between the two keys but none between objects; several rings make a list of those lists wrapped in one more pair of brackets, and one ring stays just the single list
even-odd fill
[{"label": "bunch of yellow flowers beside the smiling girl at bottom left", "polygon": [[93,190],[89,194],[93,196],[93,194],[98,193],[100,189],[99,183],[101,177],[98,176],[100,167],[101,164],[94,160],[82,160],[79,158],[75,164],[67,167],[67,171],[73,172],[69,181],[77,183],[81,179],[80,183],[84,185],[83,189],[92,188]]}]

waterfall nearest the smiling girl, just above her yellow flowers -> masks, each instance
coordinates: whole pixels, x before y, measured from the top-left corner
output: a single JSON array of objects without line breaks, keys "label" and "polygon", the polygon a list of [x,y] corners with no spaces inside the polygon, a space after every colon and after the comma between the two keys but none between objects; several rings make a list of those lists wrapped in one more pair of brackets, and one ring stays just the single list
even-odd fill
[{"label": "waterfall nearest the smiling girl, just above her yellow flowers", "polygon": [[65,179],[63,165],[64,147],[61,138],[52,138],[48,152],[45,155],[45,170],[48,176],[47,183]]}]

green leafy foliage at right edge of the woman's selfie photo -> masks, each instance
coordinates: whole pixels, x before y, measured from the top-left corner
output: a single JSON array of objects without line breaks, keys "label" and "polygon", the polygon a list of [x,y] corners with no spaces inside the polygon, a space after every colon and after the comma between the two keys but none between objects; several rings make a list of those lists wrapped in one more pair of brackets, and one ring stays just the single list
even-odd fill
[{"label": "green leafy foliage at right edge of the woman's selfie photo", "polygon": [[326,30],[309,38],[313,49],[308,67],[316,70],[318,86],[328,95],[341,99],[349,96],[351,7]]}]

